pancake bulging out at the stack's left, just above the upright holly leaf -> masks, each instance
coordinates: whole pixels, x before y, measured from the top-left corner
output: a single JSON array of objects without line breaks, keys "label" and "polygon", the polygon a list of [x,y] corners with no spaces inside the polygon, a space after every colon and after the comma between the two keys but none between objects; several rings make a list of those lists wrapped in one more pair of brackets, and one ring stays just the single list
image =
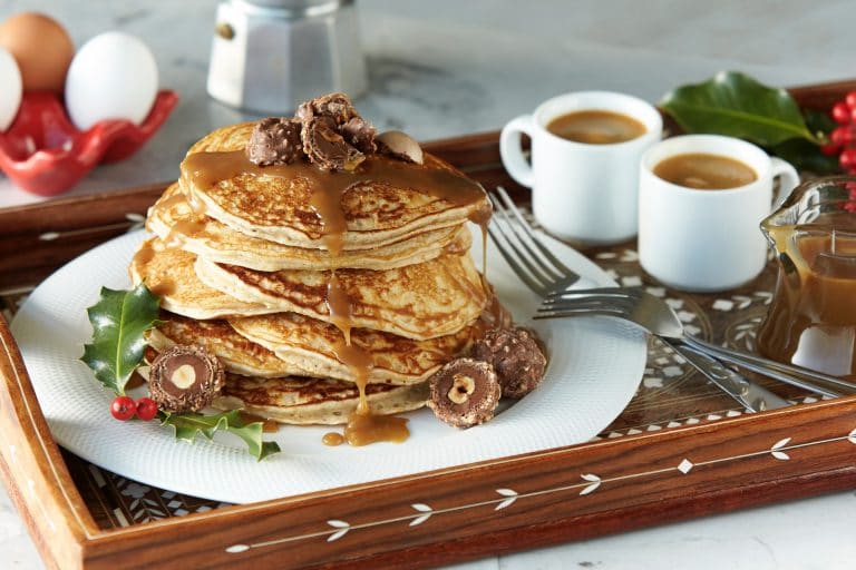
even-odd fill
[{"label": "pancake bulging out at the stack's left, just above the upright holly leaf", "polygon": [[145,282],[152,293],[160,296],[160,307],[192,318],[222,318],[235,315],[259,315],[275,309],[244,303],[208,287],[196,277],[196,256],[167,247],[159,238],[145,240],[130,263],[134,286]]}]

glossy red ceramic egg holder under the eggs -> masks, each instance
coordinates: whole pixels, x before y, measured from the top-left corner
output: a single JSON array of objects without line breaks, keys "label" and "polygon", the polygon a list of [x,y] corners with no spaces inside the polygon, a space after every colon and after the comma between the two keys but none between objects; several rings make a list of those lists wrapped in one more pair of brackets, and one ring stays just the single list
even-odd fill
[{"label": "glossy red ceramic egg holder under the eggs", "polygon": [[111,119],[80,131],[57,94],[25,94],[14,122],[0,132],[0,169],[27,191],[56,196],[99,163],[115,163],[136,153],[177,102],[175,91],[162,90],[142,125]]}]

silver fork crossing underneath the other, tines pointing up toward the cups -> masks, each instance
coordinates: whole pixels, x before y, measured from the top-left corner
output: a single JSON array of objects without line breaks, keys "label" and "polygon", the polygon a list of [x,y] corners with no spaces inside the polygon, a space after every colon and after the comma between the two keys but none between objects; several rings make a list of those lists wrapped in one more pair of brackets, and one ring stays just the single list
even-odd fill
[{"label": "silver fork crossing underneath the other, tines pointing up toward the cups", "polygon": [[[490,239],[526,286],[542,297],[548,297],[561,295],[580,281],[580,275],[563,264],[535,236],[504,188],[497,187],[496,195],[490,195],[490,202],[494,205],[494,218],[487,228]],[[747,410],[758,412],[790,405],[787,400],[749,381],[703,352],[670,338],[662,341]]]}]

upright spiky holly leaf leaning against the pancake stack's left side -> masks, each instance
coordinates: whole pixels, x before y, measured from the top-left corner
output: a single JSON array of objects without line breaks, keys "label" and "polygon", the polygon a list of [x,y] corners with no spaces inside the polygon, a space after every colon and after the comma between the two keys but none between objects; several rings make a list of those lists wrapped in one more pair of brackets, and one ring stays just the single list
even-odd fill
[{"label": "upright spiky holly leaf leaning against the pancake stack's left side", "polygon": [[101,287],[98,303],[87,309],[93,324],[93,342],[80,357],[95,377],[117,394],[143,361],[146,331],[157,321],[160,298],[145,284],[133,291]]}]

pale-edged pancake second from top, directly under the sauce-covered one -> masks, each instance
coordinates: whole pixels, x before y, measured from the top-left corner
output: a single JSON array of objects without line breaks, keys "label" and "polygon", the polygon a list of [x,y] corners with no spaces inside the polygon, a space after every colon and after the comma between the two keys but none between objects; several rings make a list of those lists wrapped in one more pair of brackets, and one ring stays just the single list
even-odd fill
[{"label": "pale-edged pancake second from top, directly under the sauce-covered one", "polygon": [[[198,220],[198,222],[197,222]],[[173,229],[200,224],[193,232],[174,233]],[[178,184],[172,185],[148,212],[146,227],[165,242],[176,237],[183,249],[206,259],[273,272],[279,269],[331,269],[353,267],[388,269],[427,262],[445,249],[468,249],[471,243],[464,226],[421,232],[406,239],[358,252],[331,255],[324,249],[288,247],[275,242],[235,232],[207,216],[200,216],[184,198]]]}]

